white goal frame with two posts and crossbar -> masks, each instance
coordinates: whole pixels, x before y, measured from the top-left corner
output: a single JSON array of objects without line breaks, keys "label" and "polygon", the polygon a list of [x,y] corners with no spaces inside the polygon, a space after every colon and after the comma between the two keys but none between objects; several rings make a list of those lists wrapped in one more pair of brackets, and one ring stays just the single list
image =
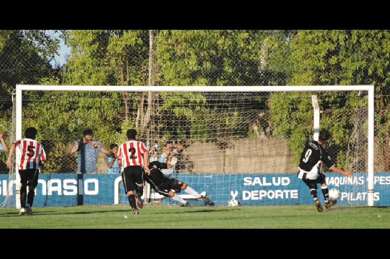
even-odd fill
[{"label": "white goal frame with two posts and crossbar", "polygon": [[[374,206],[374,86],[16,86],[16,139],[22,138],[22,91],[139,91],[139,92],[292,92],[367,91],[368,92],[368,190],[367,205]],[[20,154],[16,153],[17,157]],[[20,176],[16,167],[16,207],[20,208]]]}]

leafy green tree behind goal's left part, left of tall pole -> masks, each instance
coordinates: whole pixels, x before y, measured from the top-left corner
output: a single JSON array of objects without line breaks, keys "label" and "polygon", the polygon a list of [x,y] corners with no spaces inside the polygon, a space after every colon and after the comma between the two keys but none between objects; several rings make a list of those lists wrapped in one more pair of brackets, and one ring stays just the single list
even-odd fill
[{"label": "leafy green tree behind goal's left part, left of tall pole", "polygon": [[[62,68],[61,78],[43,78],[40,84],[117,85],[145,84],[145,36],[143,31],[69,31],[71,54]],[[145,37],[144,37],[145,38]],[[147,52],[146,52],[147,53]],[[145,57],[145,58],[142,58]],[[39,129],[46,147],[46,172],[68,173],[77,168],[70,146],[85,128],[108,147],[123,142],[128,128],[135,127],[135,110],[140,100],[135,93],[121,92],[44,92],[40,102],[26,109],[25,121]],[[139,97],[138,97],[139,98]]]}]

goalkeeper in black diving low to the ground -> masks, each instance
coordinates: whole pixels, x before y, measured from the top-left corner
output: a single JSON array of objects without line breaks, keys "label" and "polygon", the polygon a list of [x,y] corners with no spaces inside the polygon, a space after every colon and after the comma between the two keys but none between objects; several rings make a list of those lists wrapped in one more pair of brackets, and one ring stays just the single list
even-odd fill
[{"label": "goalkeeper in black diving low to the ground", "polygon": [[184,192],[186,192],[187,194],[194,195],[197,200],[204,201],[205,205],[214,205],[213,202],[210,202],[209,198],[198,194],[185,182],[168,177],[160,171],[160,169],[169,169],[171,167],[172,165],[169,163],[159,163],[158,161],[151,162],[149,164],[150,174],[145,174],[144,179],[157,193],[165,197],[171,197],[172,199],[180,202],[182,204],[181,207],[190,207],[190,204],[186,200],[177,195],[178,193],[180,193],[181,190],[184,190]]}]

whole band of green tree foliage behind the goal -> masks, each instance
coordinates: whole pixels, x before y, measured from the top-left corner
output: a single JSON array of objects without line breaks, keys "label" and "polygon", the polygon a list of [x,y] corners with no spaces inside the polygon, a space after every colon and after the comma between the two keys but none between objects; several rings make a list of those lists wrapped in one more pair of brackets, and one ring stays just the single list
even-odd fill
[{"label": "whole band of green tree foliage behind the goal", "polygon": [[[16,84],[146,86],[374,85],[375,136],[389,142],[390,31],[384,30],[156,30],[153,31],[153,67],[149,75],[148,30],[60,31],[71,47],[63,67],[50,61],[58,54],[59,40],[41,30],[0,31],[0,98],[9,100]],[[210,139],[231,135],[228,129],[256,137],[252,125],[263,120],[268,136],[289,139],[297,157],[312,129],[311,94],[318,95],[321,127],[331,131],[331,149],[340,163],[354,117],[350,110],[365,107],[365,98],[353,92],[274,93],[257,96],[253,107],[264,107],[270,117],[248,119],[248,109],[218,113],[227,108],[226,93],[156,93],[150,110],[148,94],[134,92],[27,92],[24,125],[36,126],[39,135],[53,141],[51,156],[64,156],[65,144],[91,128],[104,145],[123,141],[129,128],[158,129],[164,139]],[[270,99],[268,100],[268,97]],[[47,102],[36,102],[47,100]],[[82,100],[82,101],[80,101]],[[238,101],[229,99],[230,105]],[[34,104],[32,103],[34,102]],[[51,105],[52,104],[52,105]],[[3,117],[10,117],[11,102],[0,102]],[[149,120],[149,113],[152,119]],[[156,116],[171,118],[160,121]],[[265,121],[266,120],[266,121]],[[151,121],[155,124],[151,125]],[[121,130],[120,130],[121,129]],[[264,129],[263,129],[264,130]],[[63,142],[63,143],[65,143]],[[57,145],[57,146],[56,146]],[[65,145],[66,146],[66,145]],[[66,147],[68,148],[68,147]],[[57,152],[57,153],[55,153]],[[48,165],[54,171],[66,168]]]}]

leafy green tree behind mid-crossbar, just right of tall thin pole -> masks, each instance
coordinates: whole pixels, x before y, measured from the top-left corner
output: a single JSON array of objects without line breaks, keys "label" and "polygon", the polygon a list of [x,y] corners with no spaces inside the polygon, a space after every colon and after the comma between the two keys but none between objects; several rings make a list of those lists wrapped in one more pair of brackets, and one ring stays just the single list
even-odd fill
[{"label": "leafy green tree behind mid-crossbar, just right of tall thin pole", "polygon": [[[262,66],[267,54],[264,40],[269,33],[255,30],[158,31],[156,82],[167,86],[281,85],[283,77],[279,72]],[[242,111],[215,113],[217,108],[235,105],[235,100],[227,93],[215,94],[207,104],[205,93],[162,95],[167,101],[162,101],[160,109],[164,109],[167,116],[170,113],[172,118],[159,125],[159,129],[165,130],[163,134],[177,136],[186,132],[186,138],[224,137],[232,135],[228,129],[241,127],[237,131],[246,132],[254,123],[246,115],[239,114]],[[181,100],[188,100],[189,106],[179,107]],[[264,104],[265,98],[259,97],[254,105]],[[239,119],[233,120],[235,116]]]}]

